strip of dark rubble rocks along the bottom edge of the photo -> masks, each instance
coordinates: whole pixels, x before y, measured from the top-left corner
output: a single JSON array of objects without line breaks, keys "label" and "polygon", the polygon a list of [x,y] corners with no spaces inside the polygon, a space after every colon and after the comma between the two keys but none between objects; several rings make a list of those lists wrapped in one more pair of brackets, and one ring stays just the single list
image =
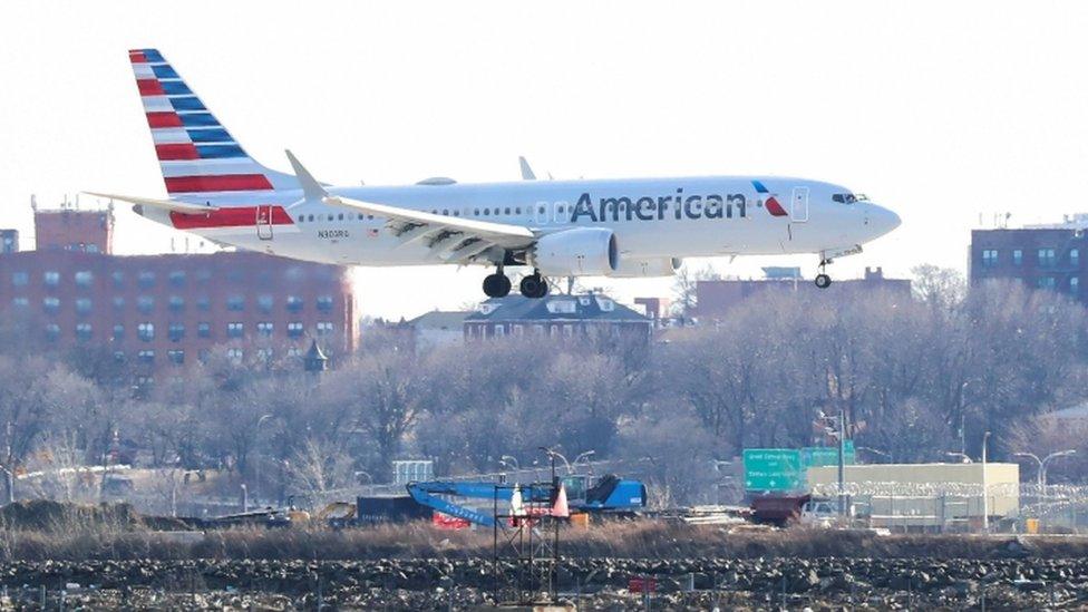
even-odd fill
[{"label": "strip of dark rubble rocks along the bottom edge of the photo", "polygon": [[[513,575],[513,567],[507,566]],[[1088,606],[1085,558],[691,558],[564,560],[563,598],[584,610],[641,605],[632,576],[654,576],[655,609],[1078,609]],[[94,561],[0,565],[9,603],[37,609],[465,610],[490,601],[480,560]],[[91,586],[93,585],[93,586]],[[694,590],[688,587],[693,585]]]}]

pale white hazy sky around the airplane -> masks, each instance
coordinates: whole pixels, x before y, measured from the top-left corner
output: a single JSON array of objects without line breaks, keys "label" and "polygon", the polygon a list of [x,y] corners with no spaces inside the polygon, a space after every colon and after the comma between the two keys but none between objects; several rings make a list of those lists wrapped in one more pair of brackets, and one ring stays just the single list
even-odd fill
[{"label": "pale white hazy sky around the airplane", "polygon": [[[273,167],[291,148],[331,183],[508,179],[517,155],[556,177],[797,175],[903,217],[833,275],[963,269],[980,213],[1088,207],[1086,31],[1088,3],[1045,1],[4,2],[0,225],[30,232],[31,193],[165,195],[126,54],[156,47]],[[169,249],[127,210],[117,232]],[[361,269],[360,305],[456,308],[483,275]]]}]

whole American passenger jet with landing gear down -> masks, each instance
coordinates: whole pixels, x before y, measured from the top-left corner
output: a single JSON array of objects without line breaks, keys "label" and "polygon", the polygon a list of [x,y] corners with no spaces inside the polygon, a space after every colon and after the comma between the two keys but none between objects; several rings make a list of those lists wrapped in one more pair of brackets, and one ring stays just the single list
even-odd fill
[{"label": "whole American passenger jet with landing gear down", "polygon": [[486,265],[484,293],[547,278],[669,276],[684,258],[815,254],[826,265],[900,225],[891,210],[841,185],[776,176],[332,186],[286,150],[293,174],[251,157],[156,49],[128,52],[167,198],[100,194],[210,241],[314,262]]}]

